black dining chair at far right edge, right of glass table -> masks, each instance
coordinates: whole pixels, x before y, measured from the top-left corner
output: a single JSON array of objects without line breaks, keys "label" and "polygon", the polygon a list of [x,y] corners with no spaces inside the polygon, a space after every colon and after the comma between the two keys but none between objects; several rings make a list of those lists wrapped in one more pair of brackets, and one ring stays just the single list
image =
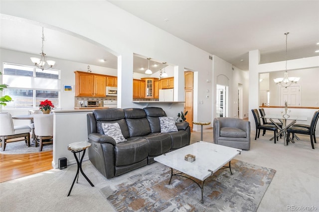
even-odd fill
[{"label": "black dining chair at far right edge, right of glass table", "polygon": [[318,118],[319,118],[319,111],[316,111],[310,122],[310,128],[301,127],[301,126],[289,127],[287,129],[287,139],[289,140],[290,133],[293,133],[293,137],[292,137],[293,140],[294,140],[295,134],[310,135],[311,146],[313,149],[315,149],[314,140],[315,140],[315,143],[317,143],[316,137],[315,137],[315,129],[316,129]]}]

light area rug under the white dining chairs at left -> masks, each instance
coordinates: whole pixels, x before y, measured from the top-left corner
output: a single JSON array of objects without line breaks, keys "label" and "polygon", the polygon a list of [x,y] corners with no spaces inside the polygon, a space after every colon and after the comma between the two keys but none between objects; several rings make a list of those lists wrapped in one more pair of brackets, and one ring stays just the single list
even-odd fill
[{"label": "light area rug under the white dining chairs at left", "polygon": [[[28,147],[25,141],[16,141],[16,142],[9,142],[5,145],[5,150],[2,151],[0,148],[0,154],[25,154],[25,153],[35,153],[39,152],[39,145],[35,147],[33,146]],[[44,145],[42,148],[42,152],[50,151],[53,149],[52,144]]]}]

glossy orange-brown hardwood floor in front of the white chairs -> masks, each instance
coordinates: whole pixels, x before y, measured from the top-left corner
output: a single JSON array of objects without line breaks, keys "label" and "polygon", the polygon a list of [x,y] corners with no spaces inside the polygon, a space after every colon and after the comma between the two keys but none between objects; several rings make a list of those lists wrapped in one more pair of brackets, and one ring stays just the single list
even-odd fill
[{"label": "glossy orange-brown hardwood floor in front of the white chairs", "polygon": [[0,154],[0,183],[52,169],[53,151]]}]

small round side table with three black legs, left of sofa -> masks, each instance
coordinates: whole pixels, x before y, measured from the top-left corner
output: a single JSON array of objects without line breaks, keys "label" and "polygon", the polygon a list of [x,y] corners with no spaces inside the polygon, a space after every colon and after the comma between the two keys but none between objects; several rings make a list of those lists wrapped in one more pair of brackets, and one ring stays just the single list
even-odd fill
[{"label": "small round side table with three black legs, left of sofa", "polygon": [[[82,175],[85,177],[85,179],[90,183],[90,185],[92,187],[94,187],[93,183],[91,183],[91,181],[89,180],[89,178],[84,174],[83,170],[82,170],[82,160],[84,158],[84,154],[85,154],[85,150],[91,146],[91,143],[89,142],[86,142],[86,141],[82,141],[82,142],[74,142],[74,143],[71,143],[68,145],[68,150],[71,150],[71,152],[74,154],[74,157],[75,157],[75,160],[76,160],[76,163],[78,164],[78,170],[76,172],[76,175],[75,175],[75,178],[73,180],[73,183],[72,183],[72,186],[70,188],[70,191],[69,191],[69,194],[68,196],[70,196],[71,194],[71,191],[72,191],[72,188],[73,188],[73,185],[75,183],[75,180],[76,180],[76,177],[78,178],[76,180],[76,183],[78,183],[78,180],[79,180],[79,171],[81,171]],[[80,158],[80,152],[82,152],[82,157],[81,157],[81,160],[79,161],[79,158]],[[79,153],[79,158],[76,156],[76,153]]]}]

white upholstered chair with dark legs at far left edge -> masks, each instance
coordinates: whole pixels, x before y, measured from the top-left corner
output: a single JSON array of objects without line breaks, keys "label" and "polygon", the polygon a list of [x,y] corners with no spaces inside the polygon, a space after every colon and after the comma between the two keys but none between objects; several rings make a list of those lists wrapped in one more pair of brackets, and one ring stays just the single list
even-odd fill
[{"label": "white upholstered chair with dark legs at far left edge", "polygon": [[[2,151],[5,150],[6,143],[13,141],[26,141],[30,146],[31,128],[27,125],[14,126],[10,113],[0,113],[0,139]],[[18,138],[18,139],[13,139]]]}]

